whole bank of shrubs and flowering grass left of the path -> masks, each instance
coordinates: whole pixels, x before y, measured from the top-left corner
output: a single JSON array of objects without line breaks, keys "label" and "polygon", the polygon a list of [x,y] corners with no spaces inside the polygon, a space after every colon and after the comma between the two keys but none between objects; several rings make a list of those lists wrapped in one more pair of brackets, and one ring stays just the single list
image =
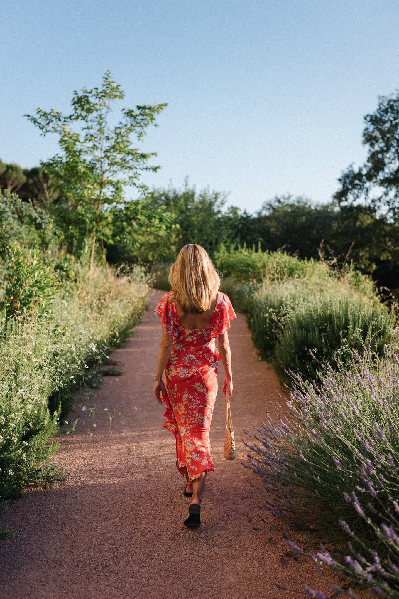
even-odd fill
[{"label": "whole bank of shrubs and flowering grass left of the path", "polygon": [[[140,267],[115,277],[58,249],[60,235],[39,207],[0,196],[0,504],[26,485],[59,478],[48,458],[78,386],[147,307]],[[11,241],[14,240],[14,241]]]}]

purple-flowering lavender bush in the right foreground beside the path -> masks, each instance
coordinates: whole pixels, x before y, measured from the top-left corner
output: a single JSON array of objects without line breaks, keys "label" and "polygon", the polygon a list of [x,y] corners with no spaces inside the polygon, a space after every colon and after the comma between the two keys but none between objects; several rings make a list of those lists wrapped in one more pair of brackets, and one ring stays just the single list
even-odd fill
[{"label": "purple-flowering lavender bush in the right foreground beside the path", "polygon": [[319,386],[293,376],[290,412],[276,403],[277,422],[267,414],[247,444],[269,495],[264,507],[309,529],[313,541],[334,543],[317,559],[398,598],[399,354],[354,352],[349,371],[330,368]]}]

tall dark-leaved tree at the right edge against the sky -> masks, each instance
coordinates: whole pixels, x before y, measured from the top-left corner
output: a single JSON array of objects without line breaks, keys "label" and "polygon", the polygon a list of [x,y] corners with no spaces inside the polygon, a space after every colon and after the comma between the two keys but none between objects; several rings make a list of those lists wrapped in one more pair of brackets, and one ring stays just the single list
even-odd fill
[{"label": "tall dark-leaved tree at the right edge against the sky", "polygon": [[338,179],[334,199],[340,206],[338,237],[354,244],[357,265],[373,273],[379,285],[399,285],[399,90],[379,96],[364,117],[367,159],[351,164]]}]

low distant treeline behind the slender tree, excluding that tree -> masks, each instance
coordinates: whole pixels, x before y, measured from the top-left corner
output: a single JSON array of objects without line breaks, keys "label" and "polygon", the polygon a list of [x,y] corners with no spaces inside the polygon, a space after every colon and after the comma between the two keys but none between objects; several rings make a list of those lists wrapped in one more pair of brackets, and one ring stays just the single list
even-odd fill
[{"label": "low distant treeline behind the slender tree, excluding that tree", "polygon": [[[51,189],[43,169],[22,169],[0,162],[0,173],[0,187],[50,212],[64,229],[67,249],[73,253],[76,239],[68,239],[63,226],[62,193]],[[254,214],[236,207],[225,210],[225,204],[223,194],[209,190],[197,193],[188,183],[182,190],[154,190],[142,201],[145,211],[154,213],[161,208],[178,227],[167,226],[156,232],[148,226],[145,230],[133,228],[129,239],[108,240],[104,244],[106,260],[110,264],[172,261],[187,243],[199,243],[211,256],[221,244],[284,249],[299,258],[318,259],[322,253],[324,258],[336,259],[338,265],[349,252],[347,260],[353,260],[363,273],[371,274],[378,286],[399,286],[398,226],[388,214],[379,214],[377,208],[362,204],[340,206],[336,200],[313,204],[303,196],[291,195],[264,202]]]}]

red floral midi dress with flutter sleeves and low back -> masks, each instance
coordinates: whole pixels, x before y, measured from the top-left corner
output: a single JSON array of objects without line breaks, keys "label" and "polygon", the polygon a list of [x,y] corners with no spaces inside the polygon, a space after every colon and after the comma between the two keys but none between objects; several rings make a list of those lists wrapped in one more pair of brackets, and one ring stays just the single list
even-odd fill
[{"label": "red floral midi dress with flutter sleeves and low back", "polygon": [[209,429],[218,392],[218,361],[215,337],[230,328],[236,318],[227,295],[218,292],[211,322],[205,329],[187,329],[181,325],[172,292],[160,299],[155,313],[161,317],[167,335],[173,336],[172,352],[165,367],[164,428],[176,437],[176,467],[184,476],[187,467],[190,482],[203,471],[215,470],[211,458]]}]

